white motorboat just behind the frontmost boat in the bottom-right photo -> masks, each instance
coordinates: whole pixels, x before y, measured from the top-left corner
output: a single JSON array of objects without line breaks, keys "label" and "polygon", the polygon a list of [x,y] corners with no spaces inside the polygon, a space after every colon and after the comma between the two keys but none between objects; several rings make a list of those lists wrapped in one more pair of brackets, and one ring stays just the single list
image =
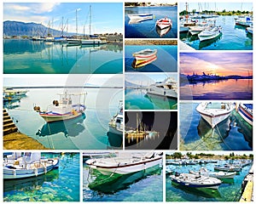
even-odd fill
[{"label": "white motorboat just behind the frontmost boat in the bottom-right photo", "polygon": [[214,178],[234,178],[236,176],[236,172],[228,173],[228,172],[209,172],[207,168],[201,167],[198,172],[189,171],[189,173],[207,177],[214,177]]}]

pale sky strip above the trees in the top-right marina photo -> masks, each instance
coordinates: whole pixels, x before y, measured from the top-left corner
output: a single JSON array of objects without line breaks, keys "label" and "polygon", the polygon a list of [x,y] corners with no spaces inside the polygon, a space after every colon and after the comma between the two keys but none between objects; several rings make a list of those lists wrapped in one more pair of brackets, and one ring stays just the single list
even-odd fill
[{"label": "pale sky strip above the trees in the top-right marina photo", "polygon": [[[227,1],[226,1],[227,2]],[[241,10],[241,11],[252,11],[253,10],[253,3],[242,3],[237,1],[232,1],[229,3],[219,3],[219,2],[212,2],[212,3],[188,3],[189,11],[192,11],[195,9],[196,11],[201,11],[201,8],[203,10],[215,10],[216,11],[223,11],[224,9],[226,11],[233,11],[233,10]],[[185,2],[179,3],[179,11],[183,11],[186,9]]]}]

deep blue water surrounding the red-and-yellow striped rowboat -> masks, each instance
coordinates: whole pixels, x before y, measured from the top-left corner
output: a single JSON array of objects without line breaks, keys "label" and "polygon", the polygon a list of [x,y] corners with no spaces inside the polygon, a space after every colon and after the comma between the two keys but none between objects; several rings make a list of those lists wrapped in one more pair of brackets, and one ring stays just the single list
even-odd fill
[{"label": "deep blue water surrounding the red-and-yellow striped rowboat", "polygon": [[[157,59],[154,62],[133,69],[131,66],[133,53],[150,48],[157,49]],[[125,46],[125,71],[143,72],[176,72],[177,71],[177,45],[126,45]]]}]

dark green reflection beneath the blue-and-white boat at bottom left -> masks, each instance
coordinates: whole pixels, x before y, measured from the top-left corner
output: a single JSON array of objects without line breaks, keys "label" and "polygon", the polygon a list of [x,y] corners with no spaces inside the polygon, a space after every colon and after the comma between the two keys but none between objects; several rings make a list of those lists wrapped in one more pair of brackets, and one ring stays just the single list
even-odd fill
[{"label": "dark green reflection beneath the blue-and-white boat at bottom left", "polygon": [[47,174],[40,175],[32,178],[21,178],[4,180],[3,192],[8,193],[10,191],[31,191],[41,188],[45,182],[51,182],[59,178],[59,169],[54,169]]}]

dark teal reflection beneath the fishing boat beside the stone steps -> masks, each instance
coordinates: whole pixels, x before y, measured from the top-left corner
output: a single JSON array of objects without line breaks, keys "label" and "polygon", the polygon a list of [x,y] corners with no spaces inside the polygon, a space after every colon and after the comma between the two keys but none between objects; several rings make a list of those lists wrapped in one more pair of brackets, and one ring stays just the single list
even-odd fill
[{"label": "dark teal reflection beneath the fishing boat beside the stone steps", "polygon": [[36,133],[36,135],[44,137],[55,133],[64,133],[65,137],[76,137],[85,129],[83,123],[85,117],[86,116],[83,113],[81,116],[67,121],[46,122],[44,126],[40,130],[38,130],[38,133]]}]

